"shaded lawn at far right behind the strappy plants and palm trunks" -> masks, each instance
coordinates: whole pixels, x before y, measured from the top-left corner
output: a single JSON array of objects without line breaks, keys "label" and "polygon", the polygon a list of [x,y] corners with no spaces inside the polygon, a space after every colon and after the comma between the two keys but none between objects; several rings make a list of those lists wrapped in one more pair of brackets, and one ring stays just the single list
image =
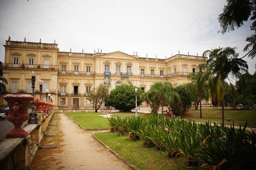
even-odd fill
[{"label": "shaded lawn at far right behind the strappy plants and palm trunks", "polygon": [[[216,121],[222,122],[222,111],[221,109],[202,109],[202,119],[200,117],[200,110],[190,110],[186,113],[184,118],[189,118],[194,121]],[[242,125],[247,123],[247,127],[256,127],[256,109],[239,109],[239,110],[224,110],[224,117],[226,124],[232,124],[234,121],[235,125]],[[230,118],[230,121],[226,119]]]}]

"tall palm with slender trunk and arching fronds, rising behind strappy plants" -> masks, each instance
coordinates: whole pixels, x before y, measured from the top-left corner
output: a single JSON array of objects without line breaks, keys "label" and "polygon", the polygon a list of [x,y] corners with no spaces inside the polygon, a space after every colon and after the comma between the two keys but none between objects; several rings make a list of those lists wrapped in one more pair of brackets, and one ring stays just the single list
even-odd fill
[{"label": "tall palm with slender trunk and arching fronds, rising behind strappy plants", "polygon": [[[210,95],[212,99],[216,96],[218,100],[222,100],[222,123],[224,123],[224,95],[225,95],[225,79],[230,82],[233,80],[243,80],[242,72],[248,71],[246,61],[238,58],[236,47],[216,48],[206,50],[203,56],[209,57],[206,64],[200,64],[198,68],[202,73],[202,79],[208,81]],[[243,81],[244,82],[244,81]]]}]

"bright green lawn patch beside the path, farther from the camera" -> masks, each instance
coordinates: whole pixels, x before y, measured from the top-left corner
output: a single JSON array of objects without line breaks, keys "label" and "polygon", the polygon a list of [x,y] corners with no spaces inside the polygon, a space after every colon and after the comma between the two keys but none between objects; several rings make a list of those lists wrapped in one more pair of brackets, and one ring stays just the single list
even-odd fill
[{"label": "bright green lawn patch beside the path, farther from the camera", "polygon": [[67,113],[77,123],[86,129],[108,128],[107,118],[102,117],[102,113]]}]

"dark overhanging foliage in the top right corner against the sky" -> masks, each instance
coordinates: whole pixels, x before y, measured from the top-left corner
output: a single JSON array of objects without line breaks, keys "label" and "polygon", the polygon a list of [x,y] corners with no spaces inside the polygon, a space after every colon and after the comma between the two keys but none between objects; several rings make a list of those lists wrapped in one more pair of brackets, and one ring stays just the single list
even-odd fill
[{"label": "dark overhanging foliage in the top right corner against the sky", "polygon": [[[218,16],[221,29],[218,32],[225,34],[229,31],[234,31],[235,28],[240,28],[244,22],[250,18],[252,20],[251,30],[254,31],[252,36],[247,37],[249,42],[244,51],[248,51],[246,55],[254,58],[256,56],[256,2],[255,0],[227,0],[227,5],[224,6],[223,12]],[[246,56],[244,55],[244,57]],[[243,58],[243,57],[242,57]]]}]

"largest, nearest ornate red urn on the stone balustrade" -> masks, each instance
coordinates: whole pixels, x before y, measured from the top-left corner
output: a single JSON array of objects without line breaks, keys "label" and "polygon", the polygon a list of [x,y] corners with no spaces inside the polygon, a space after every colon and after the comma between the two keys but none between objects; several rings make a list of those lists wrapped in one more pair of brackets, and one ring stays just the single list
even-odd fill
[{"label": "largest, nearest ornate red urn on the stone balustrade", "polygon": [[6,138],[26,137],[28,132],[21,128],[23,122],[28,120],[28,104],[34,97],[26,94],[8,94],[4,97],[9,106],[7,120],[13,123],[12,128]]}]

